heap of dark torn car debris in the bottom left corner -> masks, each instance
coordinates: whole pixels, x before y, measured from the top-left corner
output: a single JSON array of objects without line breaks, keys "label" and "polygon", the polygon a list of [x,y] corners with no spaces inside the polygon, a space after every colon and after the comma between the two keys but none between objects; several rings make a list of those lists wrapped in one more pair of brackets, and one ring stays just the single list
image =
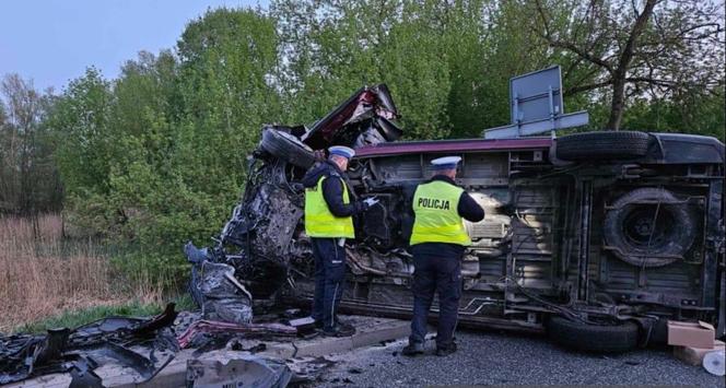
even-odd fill
[{"label": "heap of dark torn car debris in the bottom left corner", "polygon": [[51,329],[45,336],[0,336],[0,385],[51,373],[71,373],[72,385],[97,386],[97,366],[116,363],[133,368],[143,383],[176,355],[169,330],[174,304],[151,319],[108,317],[77,329]]}]

